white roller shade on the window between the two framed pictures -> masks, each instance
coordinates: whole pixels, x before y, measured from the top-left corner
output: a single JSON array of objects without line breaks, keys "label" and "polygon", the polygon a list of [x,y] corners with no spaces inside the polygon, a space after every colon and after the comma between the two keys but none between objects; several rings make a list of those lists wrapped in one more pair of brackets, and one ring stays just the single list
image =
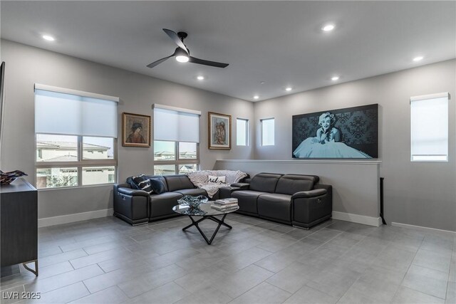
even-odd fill
[{"label": "white roller shade on the window between the two framed pictures", "polygon": [[154,105],[154,140],[199,142],[201,112]]}]

